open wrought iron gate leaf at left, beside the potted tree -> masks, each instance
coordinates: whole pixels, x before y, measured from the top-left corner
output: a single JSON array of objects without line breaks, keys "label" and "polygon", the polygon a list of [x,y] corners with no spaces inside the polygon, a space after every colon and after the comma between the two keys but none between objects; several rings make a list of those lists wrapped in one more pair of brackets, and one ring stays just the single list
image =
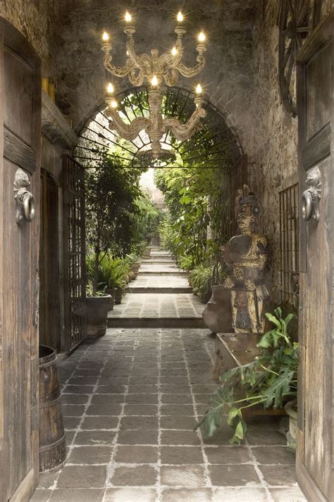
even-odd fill
[{"label": "open wrought iron gate leaf at left, beside the potted tree", "polygon": [[65,350],[85,338],[85,169],[63,156]]}]

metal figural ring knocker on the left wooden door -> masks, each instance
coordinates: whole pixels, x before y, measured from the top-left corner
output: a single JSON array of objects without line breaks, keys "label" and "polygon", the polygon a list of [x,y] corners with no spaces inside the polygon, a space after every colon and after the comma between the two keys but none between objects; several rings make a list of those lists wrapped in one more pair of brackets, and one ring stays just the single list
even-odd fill
[{"label": "metal figural ring knocker on the left wooden door", "polygon": [[30,186],[29,177],[21,168],[18,168],[15,173],[13,186],[16,199],[16,222],[34,220],[36,217],[36,203],[31,192],[27,190],[27,187]]}]

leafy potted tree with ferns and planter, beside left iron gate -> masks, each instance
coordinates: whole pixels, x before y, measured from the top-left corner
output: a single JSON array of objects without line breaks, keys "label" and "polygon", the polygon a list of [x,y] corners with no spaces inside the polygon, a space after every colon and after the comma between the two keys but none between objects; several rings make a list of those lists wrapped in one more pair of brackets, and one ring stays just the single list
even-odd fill
[{"label": "leafy potted tree with ferns and planter, beside left iron gate", "polygon": [[[124,170],[106,152],[101,160],[85,170],[85,208],[87,276],[87,334],[101,335],[106,332],[111,296],[106,289],[117,288],[116,303],[123,294],[125,263],[113,266],[111,256],[125,256],[133,241],[132,215],[137,212],[136,199],[140,196],[139,169]],[[128,264],[126,265],[128,266]],[[106,268],[112,268],[106,280]],[[102,281],[101,281],[101,275]],[[123,275],[121,278],[120,275]],[[102,282],[104,284],[102,284]],[[118,299],[117,299],[118,294]],[[97,313],[99,312],[99,318]],[[102,315],[104,320],[102,321]]]}]

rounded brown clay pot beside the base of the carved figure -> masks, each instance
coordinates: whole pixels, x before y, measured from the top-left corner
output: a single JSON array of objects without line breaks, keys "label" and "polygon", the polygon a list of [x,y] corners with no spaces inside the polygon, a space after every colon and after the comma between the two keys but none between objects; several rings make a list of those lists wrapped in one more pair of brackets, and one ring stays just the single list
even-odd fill
[{"label": "rounded brown clay pot beside the base of the carved figure", "polygon": [[213,333],[233,333],[230,290],[223,285],[212,287],[212,296],[202,313],[203,320]]}]

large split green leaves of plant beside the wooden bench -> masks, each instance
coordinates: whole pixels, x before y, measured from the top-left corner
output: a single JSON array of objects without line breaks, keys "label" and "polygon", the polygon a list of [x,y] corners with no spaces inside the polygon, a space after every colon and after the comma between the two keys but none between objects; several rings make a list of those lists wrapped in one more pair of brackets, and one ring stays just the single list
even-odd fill
[{"label": "large split green leaves of plant beside the wooden bench", "polygon": [[281,308],[274,315],[266,313],[273,329],[266,332],[259,341],[261,355],[252,363],[233,368],[221,375],[221,387],[212,396],[204,418],[197,428],[204,426],[204,432],[211,437],[221,425],[223,412],[234,429],[231,443],[240,444],[245,438],[247,408],[283,408],[297,396],[298,343],[293,341],[289,323],[295,317],[282,317]]}]

